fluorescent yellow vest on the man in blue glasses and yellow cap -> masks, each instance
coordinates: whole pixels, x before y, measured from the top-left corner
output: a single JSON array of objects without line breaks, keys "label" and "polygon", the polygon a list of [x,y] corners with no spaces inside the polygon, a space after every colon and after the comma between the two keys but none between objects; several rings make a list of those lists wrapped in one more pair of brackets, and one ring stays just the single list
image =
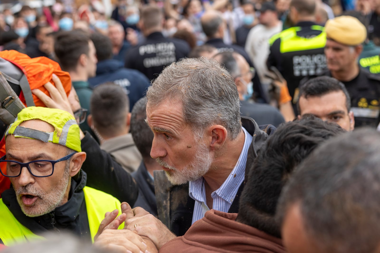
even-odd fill
[{"label": "fluorescent yellow vest on the man in blue glasses and yellow cap", "polygon": [[[121,214],[120,201],[105,192],[87,186],[83,188],[83,192],[93,242],[105,213],[118,209],[119,215]],[[119,229],[121,228],[122,225],[119,226]],[[44,238],[33,234],[30,229],[22,225],[4,204],[3,199],[0,199],[0,239],[4,245],[11,246],[31,240],[43,240]]]}]

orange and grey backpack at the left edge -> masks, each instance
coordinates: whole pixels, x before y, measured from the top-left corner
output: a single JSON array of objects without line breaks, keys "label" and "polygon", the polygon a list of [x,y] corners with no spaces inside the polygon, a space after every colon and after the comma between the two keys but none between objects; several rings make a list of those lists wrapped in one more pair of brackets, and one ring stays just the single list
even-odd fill
[{"label": "orange and grey backpack at the left edge", "polygon": [[[8,82],[0,83],[0,105],[3,111],[6,109],[6,116],[4,116],[5,113],[0,113],[0,119],[5,125],[10,124],[10,121],[16,118],[17,113],[22,109],[22,104],[24,106],[35,105],[45,107],[44,103],[33,95],[31,90],[40,89],[49,95],[49,92],[43,85],[47,82],[51,82],[54,85],[52,74],[56,74],[59,77],[67,95],[71,90],[69,73],[62,71],[58,63],[46,57],[30,58],[15,50],[1,51],[0,72]],[[19,100],[10,93],[16,94]],[[12,106],[17,104],[17,102],[19,103],[18,106]],[[3,134],[0,133],[2,136]],[[0,141],[0,157],[4,155],[5,140],[2,138]],[[9,189],[9,185],[9,179],[0,174],[0,197],[4,190]]]}]

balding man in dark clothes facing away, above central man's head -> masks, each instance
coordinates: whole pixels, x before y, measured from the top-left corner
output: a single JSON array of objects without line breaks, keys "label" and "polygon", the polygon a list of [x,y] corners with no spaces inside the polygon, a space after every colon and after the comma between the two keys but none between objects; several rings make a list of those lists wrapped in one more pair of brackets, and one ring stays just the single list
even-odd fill
[{"label": "balding man in dark clothes facing away, above central man's head", "polygon": [[[218,11],[206,11],[201,17],[201,24],[203,32],[207,36],[207,41],[205,44],[216,47],[219,53],[237,52],[245,58],[250,67],[255,68],[243,47],[238,45],[228,45],[223,42],[225,23],[223,22],[221,13]],[[268,103],[269,98],[261,86],[258,75],[253,77],[252,82],[256,98],[260,99],[260,102]]]}]

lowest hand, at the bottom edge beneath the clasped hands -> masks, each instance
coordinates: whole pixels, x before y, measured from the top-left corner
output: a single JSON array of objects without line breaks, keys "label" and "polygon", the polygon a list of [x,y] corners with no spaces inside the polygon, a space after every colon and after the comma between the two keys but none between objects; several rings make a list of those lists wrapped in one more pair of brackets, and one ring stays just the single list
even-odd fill
[{"label": "lowest hand, at the bottom edge beneath the clasped hands", "polygon": [[106,229],[97,237],[93,245],[120,253],[149,253],[142,237],[127,229]]}]

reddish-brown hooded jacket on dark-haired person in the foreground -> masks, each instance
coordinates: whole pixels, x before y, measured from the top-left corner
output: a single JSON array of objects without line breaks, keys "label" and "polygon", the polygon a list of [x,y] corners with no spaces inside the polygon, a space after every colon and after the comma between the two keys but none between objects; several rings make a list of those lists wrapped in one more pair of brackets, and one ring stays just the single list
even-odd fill
[{"label": "reddish-brown hooded jacket on dark-haired person in the foreground", "polygon": [[281,239],[236,222],[237,214],[207,211],[184,236],[170,240],[160,253],[285,253]]}]

